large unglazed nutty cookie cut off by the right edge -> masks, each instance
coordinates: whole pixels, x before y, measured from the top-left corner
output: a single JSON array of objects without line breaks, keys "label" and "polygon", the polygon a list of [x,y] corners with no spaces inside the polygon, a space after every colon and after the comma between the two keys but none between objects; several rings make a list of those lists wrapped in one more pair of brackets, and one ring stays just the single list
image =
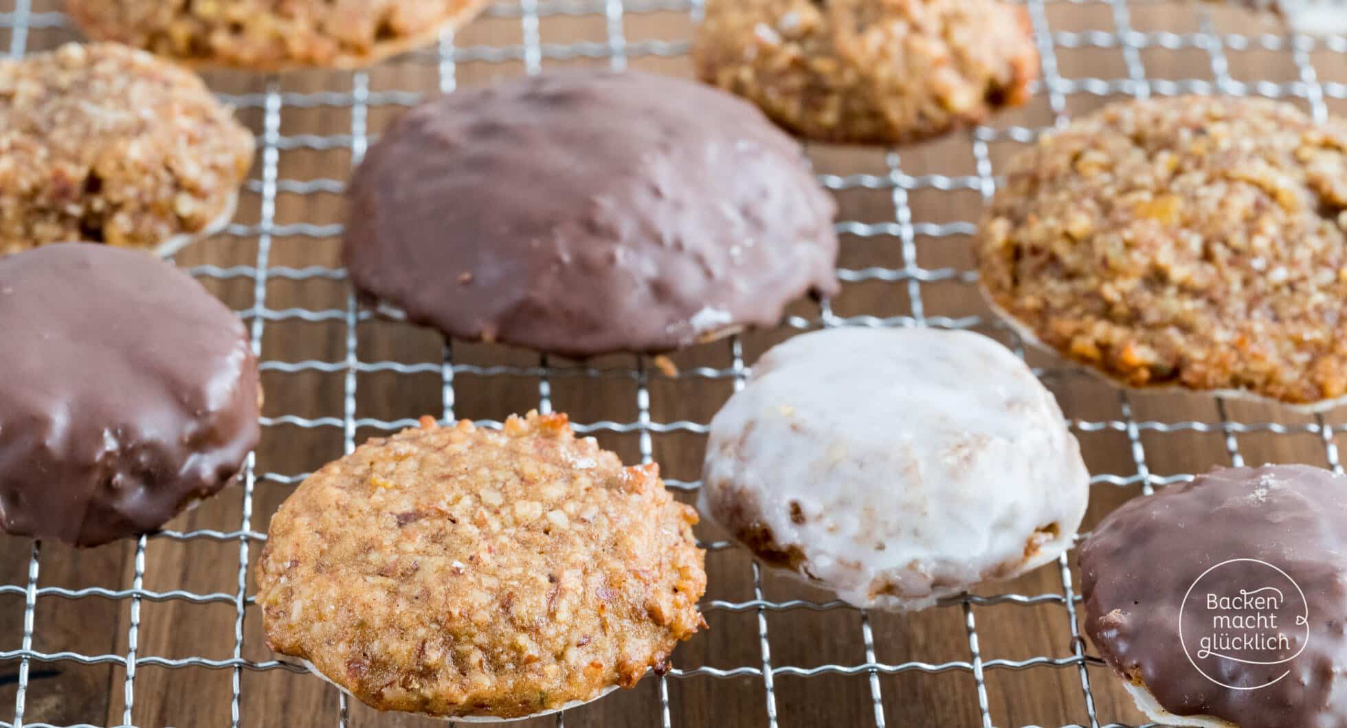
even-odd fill
[{"label": "large unglazed nutty cookie cut off by the right edge", "polygon": [[1010,161],[983,291],[1119,384],[1324,409],[1347,394],[1344,149],[1277,101],[1106,106]]}]

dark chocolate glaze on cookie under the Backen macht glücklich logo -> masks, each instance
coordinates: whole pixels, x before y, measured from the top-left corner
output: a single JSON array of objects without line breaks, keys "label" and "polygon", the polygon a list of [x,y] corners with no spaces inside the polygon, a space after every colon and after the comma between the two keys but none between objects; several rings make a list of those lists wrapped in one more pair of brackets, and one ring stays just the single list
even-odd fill
[{"label": "dark chocolate glaze on cookie under the Backen macht gl\u00fccklich logo", "polygon": [[[1105,518],[1080,546],[1084,627],[1103,659],[1125,680],[1140,680],[1160,705],[1180,716],[1211,716],[1243,728],[1347,725],[1347,478],[1309,466],[1216,468],[1191,483],[1127,502]],[[1289,575],[1247,561],[1257,558]],[[1202,676],[1179,639],[1184,638]],[[1207,593],[1237,595],[1274,587],[1280,610],[1206,611]],[[1273,592],[1263,592],[1273,593]],[[1307,610],[1308,607],[1308,610]],[[1294,616],[1308,611],[1308,636]],[[1281,649],[1222,650],[1246,665],[1202,657],[1212,615],[1276,615],[1289,643]],[[1220,631],[1273,634],[1266,627]],[[1284,678],[1269,685],[1282,673]]]}]

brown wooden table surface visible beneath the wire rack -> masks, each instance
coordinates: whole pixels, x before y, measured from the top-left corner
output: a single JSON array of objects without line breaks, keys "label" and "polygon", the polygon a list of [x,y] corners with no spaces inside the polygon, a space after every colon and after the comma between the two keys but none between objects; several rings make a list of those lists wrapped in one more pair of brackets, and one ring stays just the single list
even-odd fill
[{"label": "brown wooden table surface visible beneath the wire rack", "polygon": [[[544,9],[547,7],[544,4]],[[680,42],[690,38],[692,23],[680,3],[645,3],[645,11],[640,12],[629,4],[632,9],[620,19],[621,26],[610,22],[617,19],[602,15],[603,3],[587,7],[590,12],[579,16],[544,13],[533,26],[521,22],[520,5],[500,5],[498,12],[458,34],[457,47],[463,55],[454,65],[440,66],[439,57],[431,50],[385,63],[368,75],[323,71],[292,73],[279,78],[245,73],[207,74],[214,89],[248,94],[238,100],[242,106],[240,116],[260,137],[269,131],[271,140],[277,144],[269,145],[272,152],[259,153],[252,172],[255,182],[244,195],[236,219],[241,226],[236,234],[198,244],[185,250],[178,261],[182,265],[253,266],[259,262],[259,252],[265,252],[268,268],[260,285],[252,270],[225,280],[209,276],[203,280],[234,308],[263,308],[268,312],[263,320],[249,318],[265,361],[333,362],[331,366],[300,367],[299,371],[265,371],[265,414],[334,420],[319,421],[318,427],[280,421],[264,428],[264,440],[256,453],[259,479],[252,488],[251,515],[245,514],[247,491],[237,487],[170,525],[178,532],[209,529],[232,536],[148,540],[143,553],[143,589],[213,595],[205,603],[147,597],[140,600],[139,620],[133,624],[137,607],[125,593],[120,597],[90,595],[77,599],[57,593],[38,596],[32,610],[32,650],[119,657],[97,665],[32,661],[23,701],[26,724],[117,725],[123,721],[129,696],[133,701],[132,721],[137,725],[229,725],[237,680],[241,692],[238,720],[242,724],[334,725],[338,720],[337,692],[313,676],[280,669],[255,670],[251,665],[236,676],[232,669],[168,669],[137,662],[128,685],[123,658],[132,650],[139,659],[195,657],[229,661],[234,657],[234,597],[240,562],[237,532],[264,533],[269,515],[294,487],[284,480],[342,455],[352,441],[381,432],[374,427],[348,432],[342,421],[350,414],[385,421],[423,413],[439,416],[449,404],[457,417],[498,420],[508,413],[537,406],[540,393],[546,392],[552,406],[570,413],[577,423],[618,423],[620,427],[601,427],[595,435],[628,462],[640,460],[645,452],[660,463],[665,478],[698,478],[704,436],[695,432],[696,427],[684,423],[707,423],[731,390],[731,344],[707,344],[674,355],[680,370],[678,377],[664,375],[649,362],[634,357],[609,357],[591,362],[605,370],[601,375],[577,374],[571,369],[543,379],[531,369],[539,365],[533,354],[455,342],[454,365],[513,369],[498,373],[459,367],[451,382],[453,398],[446,400],[445,382],[435,366],[442,361],[443,351],[439,336],[379,320],[361,320],[352,327],[346,316],[343,281],[325,276],[304,280],[287,277],[284,266],[338,266],[338,238],[326,226],[342,219],[339,194],[323,184],[307,190],[283,184],[275,196],[263,194],[268,187],[264,180],[345,179],[353,152],[358,155],[361,125],[366,124],[369,132],[377,132],[400,110],[400,106],[384,104],[397,100],[385,92],[434,92],[442,82],[482,83],[524,73],[539,59],[532,50],[543,51],[543,67],[558,67],[607,63],[606,54],[614,47],[622,48],[625,43],[632,55],[630,67],[688,74],[690,63],[678,51]],[[675,9],[660,9],[663,7]],[[0,0],[0,11],[11,8],[13,0]],[[34,9],[57,8],[39,0]],[[1307,109],[1315,109],[1321,102],[1319,92],[1323,86],[1315,85],[1315,81],[1347,82],[1347,57],[1342,55],[1342,48],[1334,51],[1321,44],[1307,46],[1300,51],[1301,65],[1297,65],[1289,42],[1280,35],[1280,26],[1243,11],[1197,9],[1187,4],[1126,7],[1099,3],[1030,4],[1030,9],[1040,32],[1047,23],[1059,34],[1055,47],[1052,43],[1043,47],[1053,48],[1049,58],[1064,81],[1055,86],[1059,93],[1053,94],[1040,86],[1026,108],[998,116],[991,126],[994,129],[1051,125],[1055,120],[1098,108],[1106,101],[1099,93],[1173,93],[1191,86],[1119,79],[1195,79],[1197,86],[1226,90],[1242,89],[1245,82],[1269,81],[1273,83],[1258,90],[1293,93],[1300,97],[1294,102]],[[55,17],[36,17],[40,26],[57,27],[35,28],[18,38],[0,31],[0,48],[26,44],[30,51],[40,50],[74,36],[70,28],[59,27]],[[621,30],[621,35],[612,32],[616,28]],[[1126,38],[1133,40],[1133,47],[1118,47],[1119,28],[1130,32]],[[1242,43],[1239,38],[1228,36],[1222,36],[1220,43],[1192,42],[1191,34],[1210,30],[1277,35],[1270,36],[1266,44],[1257,39]],[[1100,35],[1087,31],[1099,31]],[[661,43],[651,43],[652,39]],[[535,46],[539,40],[541,46]],[[590,46],[579,48],[599,58],[552,58],[566,54],[564,48],[554,44],[575,42],[590,42]],[[1148,47],[1137,48],[1138,42],[1146,42]],[[501,51],[484,50],[485,46],[512,50],[504,51],[505,58],[493,59],[490,57]],[[648,51],[672,55],[651,55]],[[1052,65],[1045,63],[1045,67],[1052,75]],[[1311,69],[1308,75],[1305,69]],[[1083,81],[1087,78],[1100,81]],[[353,112],[343,105],[352,98],[362,98],[365,89],[372,94],[368,108]],[[1332,92],[1335,86],[1328,89]],[[295,96],[322,90],[338,92],[338,96]],[[315,105],[314,101],[335,105]],[[1327,104],[1328,108],[1340,105],[1335,100]],[[318,139],[300,135],[317,135]],[[338,135],[354,135],[354,144],[352,139]],[[1016,141],[1012,136],[1013,132],[1001,132],[975,143],[971,135],[962,133],[893,153],[878,148],[810,149],[822,172],[872,175],[847,178],[850,183],[861,184],[849,184],[836,192],[839,219],[866,223],[851,226],[853,233],[845,235],[839,265],[850,270],[881,266],[890,272],[849,276],[853,280],[831,301],[835,316],[924,316],[936,323],[951,318],[960,324],[967,323],[966,316],[985,316],[971,277],[966,275],[971,264],[966,229],[939,226],[977,219],[983,195],[991,188],[990,175],[997,174],[1005,159],[1022,145],[1022,140]],[[955,188],[942,188],[948,186],[923,175],[954,176]],[[294,227],[298,223],[319,227]],[[905,266],[907,273],[892,273]],[[292,308],[334,310],[337,314],[323,320],[304,320],[287,314]],[[814,320],[819,318],[819,307],[800,301],[792,314]],[[977,328],[1009,342],[1005,331],[987,327],[985,322]],[[752,365],[764,349],[795,331],[781,327],[745,335],[745,362]],[[349,338],[354,340],[354,355],[360,362],[431,366],[415,374],[370,371],[368,367],[349,370],[345,366],[350,361]],[[0,346],[22,346],[22,342],[7,342],[0,336]],[[1064,369],[1051,358],[1030,354],[1030,362],[1047,367],[1045,381],[1067,416],[1078,421],[1091,472],[1113,476],[1096,478],[1099,482],[1092,490],[1086,527],[1119,502],[1138,495],[1145,479],[1160,486],[1169,476],[1200,472],[1241,456],[1250,463],[1336,464],[1334,441],[1342,441],[1336,432],[1347,423],[1343,410],[1325,417],[1305,417],[1274,406],[1219,402],[1206,396],[1123,394]],[[572,362],[551,363],[574,367]],[[710,367],[715,374],[703,375],[707,370],[696,367]],[[648,385],[648,412],[643,412],[638,404],[643,384]],[[353,412],[346,409],[348,394],[353,394]],[[641,428],[626,427],[641,421],[644,414],[652,423],[645,435]],[[1177,423],[1197,424],[1173,427]],[[1286,432],[1262,427],[1265,423],[1281,423]],[[707,541],[721,538],[707,526],[699,526],[699,536]],[[251,567],[261,542],[247,536],[242,542]],[[0,651],[12,651],[23,646],[26,636],[24,589],[32,544],[4,538],[0,540],[0,549],[4,553],[0,584],[8,584],[0,589]],[[136,579],[136,556],[133,542],[82,552],[43,544],[38,585],[43,589],[131,589]],[[758,596],[756,588],[761,589],[762,599],[773,603],[792,599],[823,603],[830,595],[772,575],[764,575],[760,584],[756,583],[752,560],[740,549],[713,550],[707,571],[707,600],[738,606],[709,608],[710,631],[675,653],[676,667],[690,674],[669,677],[663,686],[659,678],[648,677],[633,690],[566,713],[566,725],[661,725],[661,688],[667,689],[671,723],[678,727],[769,725],[769,700],[775,702],[776,724],[781,727],[865,727],[874,725],[880,717],[888,725],[898,727],[1091,725],[1092,717],[1099,724],[1144,721],[1109,670],[1080,658],[1080,650],[1092,654],[1092,649],[1074,639],[1072,611],[1063,597],[1079,588],[1074,569],[1067,583],[1061,569],[1053,564],[1010,584],[986,587],[979,592],[986,597],[1005,593],[1037,596],[1028,604],[997,599],[967,600],[913,615],[874,614],[867,624],[863,615],[851,608],[758,610],[752,602]],[[247,589],[248,595],[255,589],[251,569]],[[253,606],[244,611],[240,654],[249,663],[273,659],[264,645],[259,616]],[[866,627],[873,634],[873,654],[869,655]],[[975,628],[977,651],[973,650],[970,628]],[[764,649],[762,635],[766,635],[769,653]],[[770,698],[760,671],[768,654],[776,669]],[[1033,658],[1039,658],[1037,662],[1012,669]],[[855,667],[867,662],[886,667],[876,674]],[[1082,663],[1086,666],[1082,667]],[[803,674],[824,665],[847,669]],[[947,669],[939,669],[942,665]],[[785,666],[791,669],[783,670]],[[707,667],[738,669],[748,674],[715,677],[704,670]],[[19,670],[18,659],[0,662],[0,705],[5,706],[0,708],[3,721],[13,720],[11,711],[16,702]],[[1094,716],[1087,708],[1087,697],[1092,698]],[[985,701],[986,715],[979,701]],[[352,706],[350,724],[440,725],[416,717],[379,715],[360,705]],[[544,719],[520,725],[556,724],[556,719]]]}]

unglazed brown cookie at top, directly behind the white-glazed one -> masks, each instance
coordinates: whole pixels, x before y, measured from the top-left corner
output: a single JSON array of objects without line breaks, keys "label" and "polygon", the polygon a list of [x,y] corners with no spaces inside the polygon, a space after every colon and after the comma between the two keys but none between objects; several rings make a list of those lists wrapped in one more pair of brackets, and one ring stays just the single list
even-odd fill
[{"label": "unglazed brown cookie at top, directly behind the white-glazed one", "polygon": [[707,82],[822,141],[915,141],[1029,98],[1029,16],[1001,0],[711,0]]}]

